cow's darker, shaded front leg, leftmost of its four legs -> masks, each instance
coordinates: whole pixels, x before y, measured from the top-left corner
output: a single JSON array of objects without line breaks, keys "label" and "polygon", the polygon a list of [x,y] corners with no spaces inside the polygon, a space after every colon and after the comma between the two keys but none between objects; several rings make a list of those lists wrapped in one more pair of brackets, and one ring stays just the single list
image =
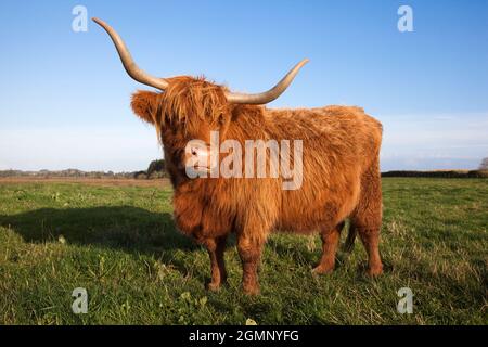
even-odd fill
[{"label": "cow's darker, shaded front leg, leftmost of its four legs", "polygon": [[227,282],[226,262],[223,260],[226,241],[227,236],[206,239],[204,241],[210,257],[211,279],[207,284],[209,291],[218,291],[220,285]]}]

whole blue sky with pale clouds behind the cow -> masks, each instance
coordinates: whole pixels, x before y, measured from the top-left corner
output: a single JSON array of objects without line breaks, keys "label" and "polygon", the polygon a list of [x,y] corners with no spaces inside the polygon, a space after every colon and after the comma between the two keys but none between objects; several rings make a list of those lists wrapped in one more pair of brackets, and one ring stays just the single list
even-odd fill
[{"label": "whole blue sky with pale clouds behind the cow", "polygon": [[[306,65],[270,107],[360,105],[385,128],[382,169],[475,168],[488,156],[488,1],[1,1],[0,169],[138,170],[162,156],[129,108],[147,89],[94,23],[153,75],[239,91]],[[397,10],[413,9],[413,33]]]}]

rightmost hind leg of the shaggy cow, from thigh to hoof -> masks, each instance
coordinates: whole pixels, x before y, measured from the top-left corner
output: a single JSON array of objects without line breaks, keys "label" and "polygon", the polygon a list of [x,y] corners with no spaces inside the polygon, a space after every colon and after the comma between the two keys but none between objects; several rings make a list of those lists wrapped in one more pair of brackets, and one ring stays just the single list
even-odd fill
[{"label": "rightmost hind leg of the shaggy cow, from thigh to hoof", "polygon": [[359,234],[368,253],[368,274],[380,275],[383,272],[380,257],[380,229],[382,223],[382,187],[377,164],[374,164],[361,180],[361,197],[351,218],[352,231]]}]

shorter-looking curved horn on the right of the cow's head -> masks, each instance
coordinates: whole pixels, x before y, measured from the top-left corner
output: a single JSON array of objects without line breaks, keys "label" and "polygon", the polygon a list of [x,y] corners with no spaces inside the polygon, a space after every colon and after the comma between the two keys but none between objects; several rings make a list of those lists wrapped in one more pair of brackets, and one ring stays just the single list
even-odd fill
[{"label": "shorter-looking curved horn on the right of the cow's head", "polygon": [[267,104],[278,97],[280,97],[286,88],[292,83],[293,79],[295,78],[296,74],[298,74],[298,70],[308,63],[308,59],[304,59],[301,62],[295,65],[294,68],[290,70],[290,73],[286,74],[285,77],[282,78],[278,82],[277,86],[271,88],[268,91],[265,91],[264,93],[258,94],[245,94],[245,93],[232,93],[227,92],[226,97],[227,100],[234,104],[254,104],[254,105],[262,105]]}]

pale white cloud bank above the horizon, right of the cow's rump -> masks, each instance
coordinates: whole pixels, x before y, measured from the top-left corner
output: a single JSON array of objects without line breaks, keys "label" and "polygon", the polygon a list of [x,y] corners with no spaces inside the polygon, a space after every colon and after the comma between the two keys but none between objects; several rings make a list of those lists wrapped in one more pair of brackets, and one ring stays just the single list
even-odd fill
[{"label": "pale white cloud bank above the horizon, right of the cow's rump", "polygon": [[476,168],[488,156],[488,113],[380,117],[382,167]]}]

